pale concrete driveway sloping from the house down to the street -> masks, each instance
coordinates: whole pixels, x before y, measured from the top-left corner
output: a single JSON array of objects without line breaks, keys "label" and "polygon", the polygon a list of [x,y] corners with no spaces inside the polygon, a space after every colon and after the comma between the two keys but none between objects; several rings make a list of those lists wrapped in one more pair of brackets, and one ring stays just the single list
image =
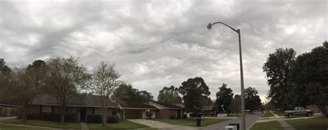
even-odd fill
[{"label": "pale concrete driveway sloping from the house down to the street", "polygon": [[168,124],[165,122],[158,122],[158,121],[154,121],[154,120],[145,120],[145,119],[128,119],[131,122],[136,122],[138,124],[143,124],[143,125],[147,125],[149,127],[152,128],[156,128],[156,129],[165,129],[165,130],[193,130],[193,129],[198,129],[196,127],[186,127],[186,126],[180,126],[180,125],[174,125],[174,124]]}]

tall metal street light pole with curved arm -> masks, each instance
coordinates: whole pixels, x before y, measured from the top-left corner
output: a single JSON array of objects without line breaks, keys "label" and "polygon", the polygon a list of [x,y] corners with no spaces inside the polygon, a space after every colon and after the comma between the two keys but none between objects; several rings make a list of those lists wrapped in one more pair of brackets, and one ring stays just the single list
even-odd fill
[{"label": "tall metal street light pole with curved arm", "polygon": [[[224,24],[222,22],[215,22],[213,24],[208,24],[208,29],[210,30],[212,28],[212,25],[214,24]],[[231,30],[234,30],[235,32],[238,33],[238,37],[239,37],[239,61],[240,61],[240,84],[241,84],[241,91],[242,91],[242,130],[246,130],[246,121],[245,121],[245,95],[244,95],[244,73],[243,73],[243,60],[242,60],[242,44],[241,44],[241,40],[240,40],[240,30],[239,29],[235,29],[233,27],[230,27],[226,24],[224,24],[225,26],[229,27]]]}]

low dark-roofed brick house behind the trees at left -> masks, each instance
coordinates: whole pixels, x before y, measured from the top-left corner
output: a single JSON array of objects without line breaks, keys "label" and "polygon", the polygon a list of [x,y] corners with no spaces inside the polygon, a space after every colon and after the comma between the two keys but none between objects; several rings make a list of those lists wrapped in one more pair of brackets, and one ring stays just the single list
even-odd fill
[{"label": "low dark-roofed brick house behind the trees at left", "polygon": [[[102,115],[102,104],[98,95],[82,95],[71,97],[66,105],[66,115],[73,116],[74,121],[85,122],[88,115]],[[114,104],[109,103],[107,115],[111,116],[116,110]],[[39,95],[32,102],[29,117],[36,118],[39,115],[48,114],[51,116],[60,115],[60,107],[57,105],[55,97],[51,95]]]}]

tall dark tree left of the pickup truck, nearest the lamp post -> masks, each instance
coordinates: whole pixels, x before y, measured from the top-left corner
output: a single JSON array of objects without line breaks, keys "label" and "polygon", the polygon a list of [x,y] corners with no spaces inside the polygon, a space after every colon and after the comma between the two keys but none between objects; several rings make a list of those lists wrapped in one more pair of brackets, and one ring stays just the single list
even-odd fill
[{"label": "tall dark tree left of the pickup truck, nearest the lamp post", "polygon": [[263,66],[270,86],[268,97],[271,97],[271,101],[282,109],[286,109],[289,102],[287,95],[292,87],[289,84],[289,77],[295,54],[293,48],[278,48],[275,53],[268,55]]}]

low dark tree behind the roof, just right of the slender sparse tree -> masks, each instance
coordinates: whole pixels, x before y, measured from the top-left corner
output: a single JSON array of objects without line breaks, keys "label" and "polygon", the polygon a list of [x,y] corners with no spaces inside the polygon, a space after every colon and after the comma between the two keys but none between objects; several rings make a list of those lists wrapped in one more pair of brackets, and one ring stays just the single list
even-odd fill
[{"label": "low dark tree behind the roof, just right of the slender sparse tree", "polygon": [[131,84],[122,83],[113,91],[112,99],[120,104],[122,102],[149,102],[154,100],[152,93],[134,89]]}]

